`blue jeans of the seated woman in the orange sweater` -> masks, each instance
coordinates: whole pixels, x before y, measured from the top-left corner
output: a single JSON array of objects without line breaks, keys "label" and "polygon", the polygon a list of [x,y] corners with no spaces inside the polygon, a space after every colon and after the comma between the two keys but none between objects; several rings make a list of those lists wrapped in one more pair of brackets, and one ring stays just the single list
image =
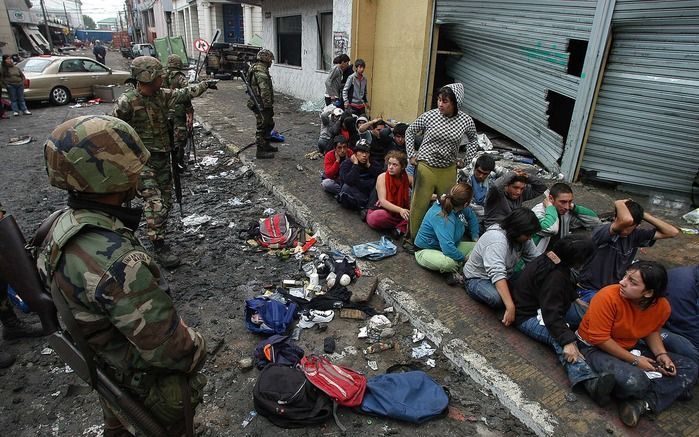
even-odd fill
[{"label": "blue jeans of the seated woman in the orange sweater", "polygon": [[[615,386],[612,394],[618,399],[643,399],[654,413],[659,413],[669,407],[678,396],[691,390],[697,380],[697,365],[684,355],[670,352],[670,358],[675,363],[677,375],[649,379],[645,372],[637,366],[632,366],[594,346],[587,346],[578,341],[578,348],[585,359],[597,373],[614,375]],[[637,347],[641,354],[653,357],[647,347]]]}]

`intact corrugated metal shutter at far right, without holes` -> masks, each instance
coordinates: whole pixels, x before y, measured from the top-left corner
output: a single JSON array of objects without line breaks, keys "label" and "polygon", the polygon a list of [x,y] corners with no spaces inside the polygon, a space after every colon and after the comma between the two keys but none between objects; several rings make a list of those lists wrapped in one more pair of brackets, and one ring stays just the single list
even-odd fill
[{"label": "intact corrugated metal shutter at far right, without holes", "polygon": [[688,3],[697,4],[617,4],[582,162],[598,179],[690,191],[699,168],[699,7]]}]

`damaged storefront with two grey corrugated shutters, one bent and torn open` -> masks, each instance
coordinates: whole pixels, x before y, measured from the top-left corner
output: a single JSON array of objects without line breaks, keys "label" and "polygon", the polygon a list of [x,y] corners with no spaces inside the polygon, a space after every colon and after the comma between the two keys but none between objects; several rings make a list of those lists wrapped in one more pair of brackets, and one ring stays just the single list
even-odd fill
[{"label": "damaged storefront with two grey corrugated shutters, one bent and torn open", "polygon": [[[567,180],[687,194],[699,168],[699,5],[436,0],[464,110]],[[445,79],[446,80],[446,79]]]}]

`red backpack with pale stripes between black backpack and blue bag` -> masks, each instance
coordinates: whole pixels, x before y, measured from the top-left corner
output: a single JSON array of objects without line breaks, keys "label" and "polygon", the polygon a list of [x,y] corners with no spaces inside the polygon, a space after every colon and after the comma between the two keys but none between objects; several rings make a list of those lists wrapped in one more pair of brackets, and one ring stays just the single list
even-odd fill
[{"label": "red backpack with pale stripes between black backpack and blue bag", "polygon": [[356,407],[362,404],[366,376],[347,367],[337,366],[317,355],[303,357],[300,366],[311,384],[325,392],[338,405]]}]

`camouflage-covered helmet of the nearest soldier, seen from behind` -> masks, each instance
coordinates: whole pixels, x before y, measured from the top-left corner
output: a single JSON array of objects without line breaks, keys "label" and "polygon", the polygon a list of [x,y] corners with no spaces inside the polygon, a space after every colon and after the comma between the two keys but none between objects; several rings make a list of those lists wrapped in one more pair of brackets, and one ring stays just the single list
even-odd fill
[{"label": "camouflage-covered helmet of the nearest soldier, seen from behind", "polygon": [[44,145],[49,183],[81,193],[135,189],[149,158],[136,131],[108,115],[86,115],[59,124]]}]

